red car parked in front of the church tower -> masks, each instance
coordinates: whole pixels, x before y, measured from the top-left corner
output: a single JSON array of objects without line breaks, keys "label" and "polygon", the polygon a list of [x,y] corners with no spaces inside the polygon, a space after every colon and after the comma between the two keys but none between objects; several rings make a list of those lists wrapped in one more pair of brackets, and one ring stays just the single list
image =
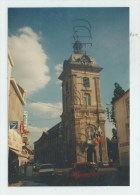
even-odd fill
[{"label": "red car parked in front of the church tower", "polygon": [[90,162],[74,163],[71,170],[71,179],[74,181],[97,178],[99,175],[96,164]]}]

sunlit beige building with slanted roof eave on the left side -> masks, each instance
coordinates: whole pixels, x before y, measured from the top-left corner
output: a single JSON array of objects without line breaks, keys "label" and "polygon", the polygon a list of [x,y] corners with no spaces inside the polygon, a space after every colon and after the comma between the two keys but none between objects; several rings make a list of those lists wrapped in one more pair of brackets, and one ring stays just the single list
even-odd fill
[{"label": "sunlit beige building with slanted roof eave on the left side", "polygon": [[[20,87],[15,79],[10,79],[9,108],[8,108],[8,146],[9,150],[18,156],[19,166],[28,161],[28,154],[23,153],[23,135],[21,134],[21,122],[23,121],[23,108],[25,105],[25,91]],[[10,123],[18,123],[16,128],[10,128]]]}]

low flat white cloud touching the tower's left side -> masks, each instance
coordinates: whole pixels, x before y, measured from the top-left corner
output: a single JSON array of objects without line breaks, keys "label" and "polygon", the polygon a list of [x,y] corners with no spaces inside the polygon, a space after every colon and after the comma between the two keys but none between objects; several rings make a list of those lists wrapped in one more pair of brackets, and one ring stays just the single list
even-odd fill
[{"label": "low flat white cloud touching the tower's left side", "polygon": [[62,103],[43,103],[36,102],[28,105],[30,109],[32,109],[33,113],[36,115],[42,116],[44,114],[49,115],[51,118],[59,118],[62,114]]}]

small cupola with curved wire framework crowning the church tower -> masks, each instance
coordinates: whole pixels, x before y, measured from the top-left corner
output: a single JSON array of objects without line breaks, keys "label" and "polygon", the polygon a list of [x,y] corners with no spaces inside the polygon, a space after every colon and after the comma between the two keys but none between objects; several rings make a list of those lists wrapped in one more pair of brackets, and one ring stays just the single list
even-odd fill
[{"label": "small cupola with curved wire framework crowning the church tower", "polygon": [[[74,53],[85,53],[87,45],[92,46],[91,25],[87,20],[76,19],[73,26]],[[84,50],[83,50],[84,46]]]}]

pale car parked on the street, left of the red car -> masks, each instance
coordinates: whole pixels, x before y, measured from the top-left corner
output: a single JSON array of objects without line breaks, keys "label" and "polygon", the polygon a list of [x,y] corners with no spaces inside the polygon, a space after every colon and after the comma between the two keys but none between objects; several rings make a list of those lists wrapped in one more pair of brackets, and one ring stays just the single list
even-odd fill
[{"label": "pale car parked on the street, left of the red car", "polygon": [[41,164],[38,171],[39,178],[51,178],[55,175],[54,164]]}]

